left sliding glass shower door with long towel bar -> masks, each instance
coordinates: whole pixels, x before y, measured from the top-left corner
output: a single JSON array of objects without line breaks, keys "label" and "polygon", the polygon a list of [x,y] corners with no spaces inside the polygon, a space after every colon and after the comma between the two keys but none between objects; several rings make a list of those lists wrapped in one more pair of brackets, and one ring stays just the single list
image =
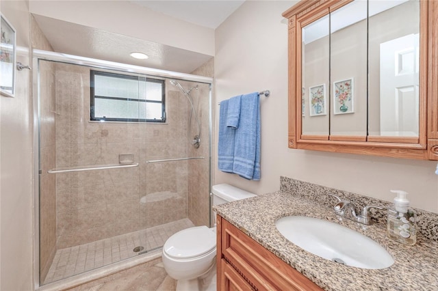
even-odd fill
[{"label": "left sliding glass shower door with long towel bar", "polygon": [[135,74],[87,66],[40,60],[38,69],[40,282],[49,283],[145,245],[145,86]]}]

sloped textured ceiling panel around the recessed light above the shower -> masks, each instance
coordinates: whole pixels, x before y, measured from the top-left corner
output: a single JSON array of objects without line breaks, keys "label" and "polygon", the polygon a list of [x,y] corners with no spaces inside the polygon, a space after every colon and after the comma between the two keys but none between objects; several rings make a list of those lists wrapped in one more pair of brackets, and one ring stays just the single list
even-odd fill
[{"label": "sloped textured ceiling panel around the recessed light above the shower", "polygon": [[[34,17],[57,53],[184,73],[193,72],[211,58],[209,55],[45,16]],[[149,59],[133,59],[129,56],[133,51],[147,52]]]}]

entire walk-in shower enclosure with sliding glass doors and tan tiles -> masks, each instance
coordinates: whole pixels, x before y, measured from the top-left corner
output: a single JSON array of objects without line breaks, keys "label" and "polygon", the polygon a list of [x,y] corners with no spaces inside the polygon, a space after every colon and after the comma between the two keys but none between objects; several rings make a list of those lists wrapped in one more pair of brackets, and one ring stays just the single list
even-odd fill
[{"label": "entire walk-in shower enclosure with sliding glass doors and tan tiles", "polygon": [[210,224],[211,78],[77,59],[34,57],[40,285]]}]

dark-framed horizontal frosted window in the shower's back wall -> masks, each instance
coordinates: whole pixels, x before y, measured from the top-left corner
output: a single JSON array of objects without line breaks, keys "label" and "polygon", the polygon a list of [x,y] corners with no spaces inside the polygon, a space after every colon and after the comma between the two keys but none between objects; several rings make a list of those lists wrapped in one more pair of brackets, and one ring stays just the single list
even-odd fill
[{"label": "dark-framed horizontal frosted window in the shower's back wall", "polygon": [[90,78],[91,120],[166,121],[164,80],[94,70]]}]

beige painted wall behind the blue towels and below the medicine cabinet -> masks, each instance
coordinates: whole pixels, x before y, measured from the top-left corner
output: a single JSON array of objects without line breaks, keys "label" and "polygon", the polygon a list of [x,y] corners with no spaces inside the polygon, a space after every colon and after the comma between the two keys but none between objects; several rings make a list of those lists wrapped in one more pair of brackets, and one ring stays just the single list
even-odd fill
[{"label": "beige painted wall behind the blue towels and below the medicine cabinet", "polygon": [[[287,22],[281,13],[294,3],[246,1],[216,29],[216,116],[220,100],[263,89],[272,94],[261,100],[261,180],[216,170],[214,183],[261,194],[278,190],[279,177],[287,176],[386,201],[394,198],[390,189],[403,189],[414,207],[438,212],[435,162],[287,148]],[[216,146],[217,130],[215,137]]]}]

